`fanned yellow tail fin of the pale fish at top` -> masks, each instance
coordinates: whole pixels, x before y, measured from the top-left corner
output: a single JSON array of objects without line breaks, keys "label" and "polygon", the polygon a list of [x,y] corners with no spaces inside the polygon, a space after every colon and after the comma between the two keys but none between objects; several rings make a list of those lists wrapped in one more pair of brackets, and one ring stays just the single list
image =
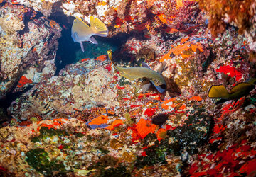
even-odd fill
[{"label": "fanned yellow tail fin of the pale fish at top", "polygon": [[90,16],[90,28],[95,33],[95,35],[100,35],[102,37],[106,37],[108,35],[107,26],[102,21],[100,21],[99,18]]}]

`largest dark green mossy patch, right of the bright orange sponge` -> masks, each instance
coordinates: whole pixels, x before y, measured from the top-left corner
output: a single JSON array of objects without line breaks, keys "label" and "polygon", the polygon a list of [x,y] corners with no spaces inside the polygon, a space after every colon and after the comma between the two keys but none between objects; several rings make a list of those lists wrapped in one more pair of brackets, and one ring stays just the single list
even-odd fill
[{"label": "largest dark green mossy patch, right of the bright orange sponge", "polygon": [[206,110],[193,106],[183,126],[166,131],[166,137],[161,142],[156,140],[156,136],[150,134],[144,138],[142,142],[144,147],[151,142],[154,142],[154,145],[144,149],[146,156],[137,156],[135,166],[142,168],[146,165],[166,164],[166,155],[181,156],[183,151],[190,155],[196,154],[198,147],[201,147],[208,139],[211,127],[212,118]]}]

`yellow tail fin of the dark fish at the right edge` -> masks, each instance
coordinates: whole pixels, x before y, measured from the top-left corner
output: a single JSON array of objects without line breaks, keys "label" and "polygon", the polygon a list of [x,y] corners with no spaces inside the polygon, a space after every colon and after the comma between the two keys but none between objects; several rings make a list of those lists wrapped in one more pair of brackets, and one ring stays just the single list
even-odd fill
[{"label": "yellow tail fin of the dark fish at the right edge", "polygon": [[229,93],[223,85],[211,86],[208,91],[209,98],[228,98]]}]

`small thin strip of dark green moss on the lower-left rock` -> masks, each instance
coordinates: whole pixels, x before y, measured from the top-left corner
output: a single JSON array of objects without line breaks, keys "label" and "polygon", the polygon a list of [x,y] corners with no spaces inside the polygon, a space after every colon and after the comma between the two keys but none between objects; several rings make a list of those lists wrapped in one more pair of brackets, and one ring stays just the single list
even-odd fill
[{"label": "small thin strip of dark green moss on the lower-left rock", "polygon": [[41,139],[46,139],[48,137],[53,137],[53,136],[69,136],[68,132],[65,130],[60,130],[60,129],[54,129],[54,128],[48,128],[48,127],[41,127],[39,130],[40,135],[37,137],[33,137],[31,139],[31,142],[41,142]]}]

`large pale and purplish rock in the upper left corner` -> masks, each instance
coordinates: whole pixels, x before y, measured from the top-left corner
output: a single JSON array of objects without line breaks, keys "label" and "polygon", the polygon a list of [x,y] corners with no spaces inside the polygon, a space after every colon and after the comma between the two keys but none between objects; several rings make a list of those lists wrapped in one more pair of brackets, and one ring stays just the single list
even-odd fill
[{"label": "large pale and purplish rock in the upper left corner", "polygon": [[3,96],[14,86],[14,92],[23,91],[28,84],[38,82],[41,74],[55,74],[61,29],[44,16],[36,19],[36,11],[26,6],[6,3],[0,11]]}]

